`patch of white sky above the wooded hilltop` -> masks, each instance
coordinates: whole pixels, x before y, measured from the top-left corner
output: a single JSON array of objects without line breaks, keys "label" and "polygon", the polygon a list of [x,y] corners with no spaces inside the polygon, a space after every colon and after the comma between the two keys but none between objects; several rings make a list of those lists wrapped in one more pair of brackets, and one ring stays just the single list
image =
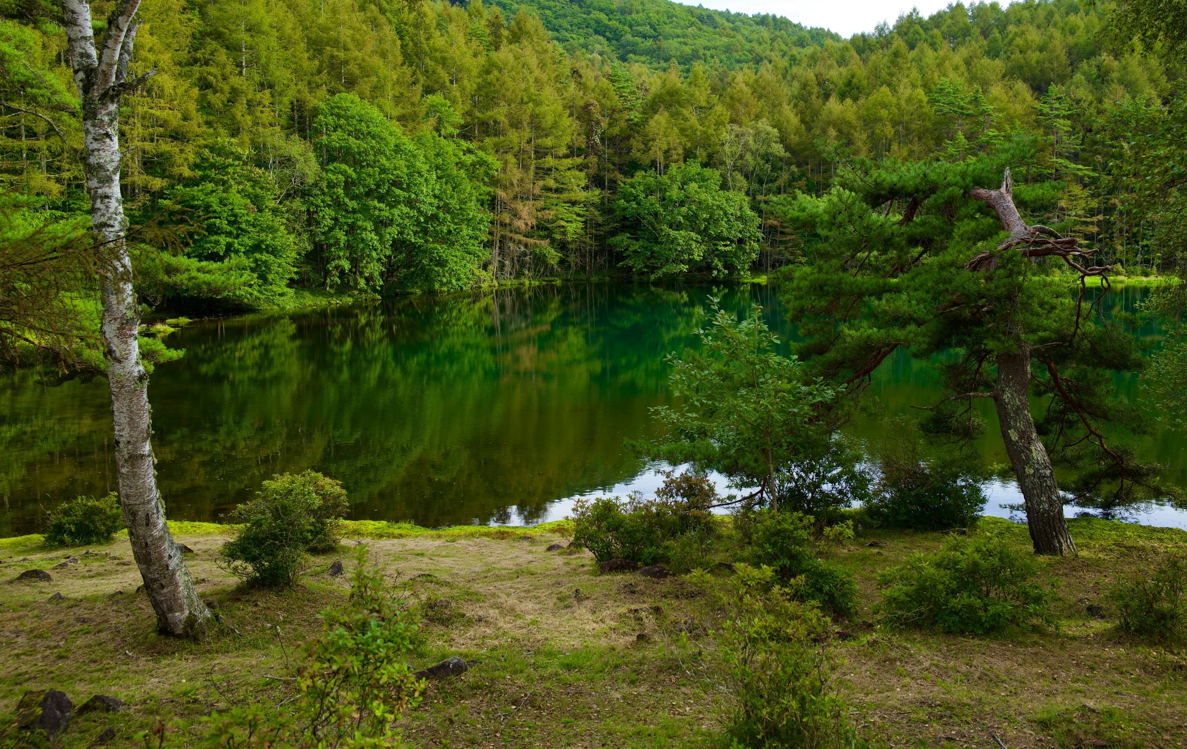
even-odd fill
[{"label": "patch of white sky above the wooded hilltop", "polygon": [[[684,0],[686,5],[693,5]],[[782,15],[808,28],[827,28],[844,38],[855,33],[874,31],[874,27],[886,21],[894,25],[900,15],[918,8],[919,14],[927,18],[937,11],[946,8],[952,0],[700,0],[698,5],[716,11],[735,13],[770,13]],[[965,4],[966,6],[969,2]],[[1002,5],[1007,5],[1002,2]]]}]

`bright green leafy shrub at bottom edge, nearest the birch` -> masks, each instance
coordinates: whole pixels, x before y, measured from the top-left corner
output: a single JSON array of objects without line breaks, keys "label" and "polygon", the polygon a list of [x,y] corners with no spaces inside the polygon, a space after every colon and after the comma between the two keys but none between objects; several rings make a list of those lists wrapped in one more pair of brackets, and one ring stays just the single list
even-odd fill
[{"label": "bright green leafy shrub at bottom edge, nearest the birch", "polygon": [[407,602],[388,595],[367,556],[358,546],[350,597],[322,611],[322,634],[305,643],[292,707],[256,703],[214,712],[204,718],[203,747],[406,745],[392,724],[425,687],[404,662],[418,621]]}]

